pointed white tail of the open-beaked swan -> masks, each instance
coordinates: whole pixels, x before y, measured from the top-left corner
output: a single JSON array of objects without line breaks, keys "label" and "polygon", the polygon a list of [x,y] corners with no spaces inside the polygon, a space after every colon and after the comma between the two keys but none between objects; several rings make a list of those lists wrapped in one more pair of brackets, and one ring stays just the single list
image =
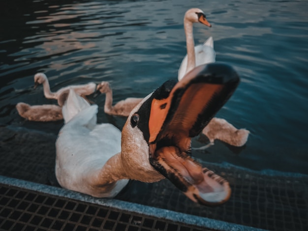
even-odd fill
[{"label": "pointed white tail of the open-beaked swan", "polygon": [[77,95],[72,88],[63,92],[60,98],[63,105],[62,114],[64,123],[67,123],[81,111],[90,107],[90,104],[84,98]]}]

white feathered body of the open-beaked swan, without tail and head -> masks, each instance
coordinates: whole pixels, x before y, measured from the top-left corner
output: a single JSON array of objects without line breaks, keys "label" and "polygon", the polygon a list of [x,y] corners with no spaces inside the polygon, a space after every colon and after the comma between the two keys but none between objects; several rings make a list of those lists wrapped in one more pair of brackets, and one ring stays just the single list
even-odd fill
[{"label": "white feathered body of the open-beaked swan, without tail and head", "polygon": [[94,197],[114,197],[128,180],[108,184],[110,178],[99,176],[107,161],[121,151],[121,132],[112,124],[96,124],[97,111],[97,105],[89,105],[62,127],[56,142],[56,176],[64,188]]}]

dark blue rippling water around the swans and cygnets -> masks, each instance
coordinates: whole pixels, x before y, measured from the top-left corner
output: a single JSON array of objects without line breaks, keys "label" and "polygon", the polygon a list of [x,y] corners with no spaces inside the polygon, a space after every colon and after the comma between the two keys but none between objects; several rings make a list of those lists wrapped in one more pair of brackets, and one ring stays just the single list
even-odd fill
[{"label": "dark blue rippling water around the swans and cygnets", "polygon": [[[216,61],[232,65],[241,84],[218,112],[251,134],[244,147],[222,142],[197,158],[252,170],[308,174],[308,1],[294,0],[2,0],[0,123],[57,134],[63,122],[30,122],[18,102],[56,104],[33,88],[44,72],[52,90],[109,81],[114,101],[144,97],[177,79],[185,56],[183,16],[205,11],[212,28],[195,25],[196,43],[214,37]],[[99,122],[121,128],[122,117]],[[194,146],[204,138],[195,138]]]}]

